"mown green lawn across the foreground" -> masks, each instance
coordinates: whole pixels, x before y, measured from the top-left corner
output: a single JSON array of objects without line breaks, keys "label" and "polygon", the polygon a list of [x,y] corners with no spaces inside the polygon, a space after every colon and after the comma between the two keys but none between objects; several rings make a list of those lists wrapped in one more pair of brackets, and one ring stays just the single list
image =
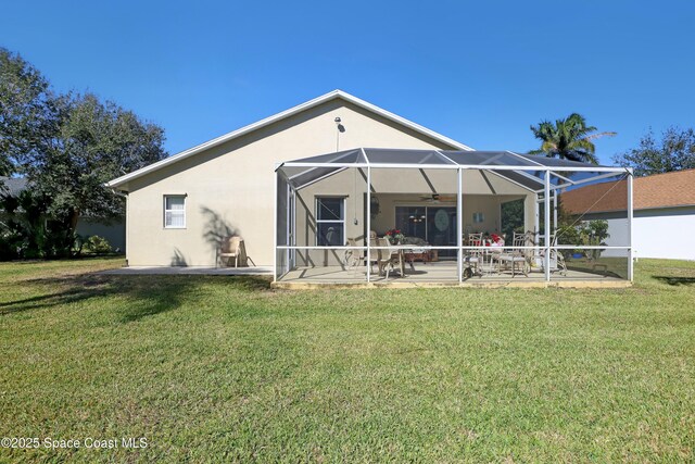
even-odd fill
[{"label": "mown green lawn across the foreground", "polygon": [[[695,460],[695,263],[623,290],[277,291],[0,265],[0,461]],[[118,443],[121,444],[121,442]]]}]

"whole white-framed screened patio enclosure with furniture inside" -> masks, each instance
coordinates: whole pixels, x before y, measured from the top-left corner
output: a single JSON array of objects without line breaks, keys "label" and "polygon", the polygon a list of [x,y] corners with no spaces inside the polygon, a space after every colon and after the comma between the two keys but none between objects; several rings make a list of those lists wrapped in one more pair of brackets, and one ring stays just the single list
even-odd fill
[{"label": "whole white-framed screened patio enclosure with furniture inside", "polygon": [[276,176],[278,284],[632,280],[624,167],[364,148],[285,162]]}]

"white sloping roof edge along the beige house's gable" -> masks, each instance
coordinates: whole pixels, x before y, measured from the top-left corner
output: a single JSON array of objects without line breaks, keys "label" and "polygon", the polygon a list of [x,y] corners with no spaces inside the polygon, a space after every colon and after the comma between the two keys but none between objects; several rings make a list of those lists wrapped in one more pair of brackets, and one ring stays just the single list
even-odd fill
[{"label": "white sloping roof edge along the beige house's gable", "polygon": [[217,137],[215,139],[212,139],[210,141],[206,141],[204,143],[201,143],[197,147],[190,148],[188,150],[181,151],[180,153],[174,154],[172,156],[168,156],[162,161],[157,161],[156,163],[150,164],[149,166],[144,166],[138,171],[134,171],[132,173],[126,174],[124,176],[121,176],[116,179],[113,179],[109,183],[105,184],[106,187],[117,187],[119,185],[123,185],[129,180],[132,180],[135,178],[141,177],[146,174],[149,174],[153,171],[160,170],[164,166],[167,166],[172,163],[176,163],[177,161],[181,161],[185,160],[189,156],[192,156],[197,153],[200,153],[204,150],[207,150],[208,148],[212,147],[216,147],[220,143],[225,143],[229,140],[233,140],[237,137],[241,137],[245,134],[249,134],[253,130],[260,129],[262,127],[268,126],[270,124],[277,123],[278,121],[285,120],[287,117],[290,117],[294,114],[301,113],[302,111],[306,111],[311,108],[314,106],[318,106],[319,104],[326,103],[327,101],[331,101],[334,99],[342,99],[346,102],[350,102],[356,106],[363,108],[365,110],[368,110],[372,113],[376,113],[387,120],[393,121],[395,123],[399,123],[412,130],[415,130],[416,133],[426,135],[428,137],[431,137],[434,140],[439,140],[443,143],[446,143],[451,147],[457,148],[459,150],[472,150],[470,147],[467,147],[460,142],[457,142],[454,139],[451,139],[448,137],[445,137],[441,134],[438,134],[433,130],[428,129],[427,127],[420,126],[419,124],[416,124],[412,121],[408,121],[404,117],[401,117],[396,114],[393,114],[387,110],[383,110],[375,104],[371,104],[365,100],[358,99],[357,97],[354,97],[348,92],[344,92],[342,90],[333,90],[331,92],[328,92],[326,95],[323,95],[318,98],[315,98],[314,100],[309,100],[307,102],[304,102],[302,104],[298,104],[294,108],[290,108],[289,110],[282,111],[280,113],[274,114],[273,116],[266,117],[265,120],[261,120],[256,123],[250,124],[248,126],[241,127],[240,129],[237,130],[232,130],[229,134],[225,134],[224,136]]}]

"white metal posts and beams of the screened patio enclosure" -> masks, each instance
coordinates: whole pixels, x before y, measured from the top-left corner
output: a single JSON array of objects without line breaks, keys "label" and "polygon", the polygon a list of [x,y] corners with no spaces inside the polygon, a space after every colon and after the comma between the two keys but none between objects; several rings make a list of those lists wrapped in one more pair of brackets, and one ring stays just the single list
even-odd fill
[{"label": "white metal posts and beams of the screened patio enclosure", "polygon": [[[402,159],[407,158],[415,161],[404,162]],[[338,174],[346,168],[357,168],[366,171],[366,231],[371,230],[371,188],[372,188],[372,168],[392,168],[392,170],[447,170],[456,172],[456,214],[457,214],[457,273],[458,281],[463,280],[463,260],[464,250],[476,249],[477,247],[465,247],[463,244],[463,174],[467,170],[481,171],[491,173],[502,177],[505,180],[523,188],[536,196],[543,193],[543,199],[535,201],[535,228],[539,230],[539,203],[545,203],[544,206],[544,243],[543,247],[523,247],[526,249],[534,249],[544,251],[544,268],[545,280],[551,280],[551,250],[563,250],[578,248],[579,243],[572,246],[553,244],[551,240],[551,208],[553,209],[553,220],[557,223],[557,195],[560,189],[567,187],[576,187],[583,184],[624,175],[628,180],[628,198],[627,198],[627,220],[628,220],[628,243],[626,246],[581,246],[583,249],[602,249],[602,250],[627,250],[628,251],[628,280],[633,280],[633,249],[632,249],[632,218],[633,218],[633,195],[632,195],[632,168],[592,165],[572,161],[548,159],[544,156],[525,155],[514,153],[511,151],[448,151],[435,149],[352,149],[341,152],[329,153],[319,156],[289,161],[278,163],[276,165],[276,187],[280,178],[285,178],[288,184],[288,201],[294,198],[290,195],[296,189],[301,189],[311,184],[325,180],[330,176]],[[572,178],[576,176],[577,178]],[[552,178],[558,179],[554,184]],[[278,216],[278,196],[276,195],[275,217],[276,217],[276,241],[275,241],[275,273],[274,278],[277,281],[281,276],[278,275],[277,256],[278,250],[366,250],[366,256],[370,256],[374,249],[370,240],[366,240],[363,247],[334,247],[334,246],[304,246],[278,243],[277,216]],[[286,237],[290,236],[290,229],[294,225],[287,224],[288,230]],[[379,247],[377,247],[379,248]],[[407,246],[403,248],[408,248]],[[451,249],[451,247],[410,247],[420,249]],[[366,266],[366,281],[371,281],[370,266]]]}]

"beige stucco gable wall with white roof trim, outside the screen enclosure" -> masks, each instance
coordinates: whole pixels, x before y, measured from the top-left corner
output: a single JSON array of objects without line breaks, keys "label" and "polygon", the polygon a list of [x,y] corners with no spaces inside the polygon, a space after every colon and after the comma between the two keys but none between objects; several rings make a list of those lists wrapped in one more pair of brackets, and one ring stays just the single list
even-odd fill
[{"label": "beige stucco gable wall with white roof trim, outside the screen enclosure", "polygon": [[[349,93],[332,91],[110,181],[109,188],[127,196],[128,264],[216,265],[217,237],[229,229],[244,238],[256,264],[273,265],[277,164],[358,147],[469,149]],[[402,200],[415,204],[421,193],[430,192],[427,185],[420,186],[421,191],[417,187],[404,183],[400,190],[408,198]],[[382,198],[384,214],[376,229],[393,227],[395,199],[393,193]],[[304,200],[313,204],[312,199]],[[498,229],[502,200],[469,198],[471,205],[479,203],[476,210],[491,211],[481,228]],[[454,199],[450,202],[455,206]],[[184,208],[179,223],[166,224],[167,203]]]}]

